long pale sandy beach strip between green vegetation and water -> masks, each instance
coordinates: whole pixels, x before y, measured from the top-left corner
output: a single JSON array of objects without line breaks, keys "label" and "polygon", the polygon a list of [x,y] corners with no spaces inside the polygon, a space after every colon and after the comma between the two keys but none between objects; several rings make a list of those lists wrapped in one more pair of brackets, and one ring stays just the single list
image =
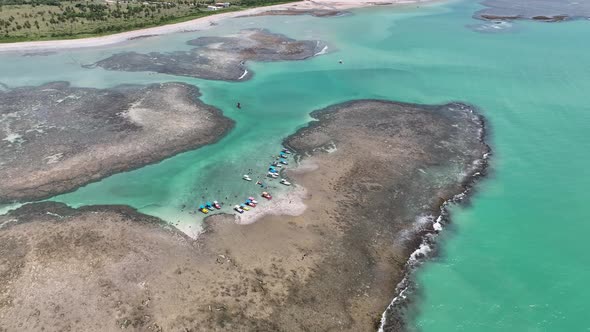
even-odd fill
[{"label": "long pale sandy beach strip between green vegetation and water", "polygon": [[91,37],[72,40],[47,40],[0,44],[1,52],[22,52],[22,51],[51,51],[62,49],[76,49],[86,47],[106,46],[125,42],[127,40],[165,35],[175,32],[206,30],[217,22],[238,16],[251,16],[261,14],[269,10],[346,10],[351,8],[367,7],[374,5],[404,5],[413,3],[427,3],[432,0],[327,0],[327,1],[300,1],[288,4],[280,4],[268,7],[258,7],[243,11],[220,13],[217,15],[197,18],[187,22],[168,24],[158,27],[122,32],[118,34]]}]

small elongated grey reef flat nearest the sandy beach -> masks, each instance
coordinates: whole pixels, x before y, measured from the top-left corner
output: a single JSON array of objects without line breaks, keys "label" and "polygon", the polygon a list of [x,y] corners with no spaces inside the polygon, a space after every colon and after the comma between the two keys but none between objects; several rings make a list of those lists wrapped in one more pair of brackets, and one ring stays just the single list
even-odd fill
[{"label": "small elongated grey reef flat nearest the sandy beach", "polygon": [[124,52],[87,67],[238,81],[252,76],[246,61],[304,60],[326,46],[320,41],[298,41],[260,29],[242,30],[227,37],[201,37],[188,41],[188,44],[196,48],[170,53]]}]

